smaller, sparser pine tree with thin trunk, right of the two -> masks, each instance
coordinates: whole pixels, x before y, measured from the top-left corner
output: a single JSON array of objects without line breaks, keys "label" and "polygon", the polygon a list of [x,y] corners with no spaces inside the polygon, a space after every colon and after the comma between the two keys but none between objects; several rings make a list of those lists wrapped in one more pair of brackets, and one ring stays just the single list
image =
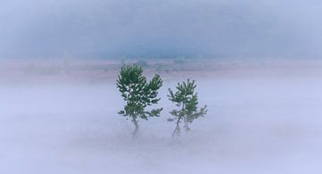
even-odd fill
[{"label": "smaller, sparser pine tree with thin trunk, right of the two", "polygon": [[188,79],[186,82],[178,83],[177,91],[173,92],[170,88],[168,89],[169,100],[178,108],[170,112],[174,118],[168,119],[168,121],[175,121],[176,123],[173,138],[180,136],[181,123],[183,123],[183,128],[188,132],[190,130],[189,124],[193,120],[203,117],[208,112],[207,105],[198,110],[198,94],[194,92],[196,87],[195,81]]}]

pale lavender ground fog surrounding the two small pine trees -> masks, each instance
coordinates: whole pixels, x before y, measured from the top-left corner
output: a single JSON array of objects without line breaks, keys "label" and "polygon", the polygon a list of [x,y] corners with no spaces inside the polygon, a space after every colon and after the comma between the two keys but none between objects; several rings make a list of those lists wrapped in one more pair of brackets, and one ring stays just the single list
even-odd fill
[{"label": "pale lavender ground fog surrounding the two small pine trees", "polygon": [[1,86],[0,173],[320,173],[322,82],[314,78],[197,79],[208,115],[171,140],[174,105],[132,124],[114,83]]}]

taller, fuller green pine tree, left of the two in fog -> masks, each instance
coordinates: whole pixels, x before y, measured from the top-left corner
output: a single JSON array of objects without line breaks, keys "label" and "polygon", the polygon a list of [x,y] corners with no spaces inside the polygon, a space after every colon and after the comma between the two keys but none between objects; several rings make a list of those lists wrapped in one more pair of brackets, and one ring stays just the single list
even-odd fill
[{"label": "taller, fuller green pine tree, left of the two in fog", "polygon": [[147,111],[147,107],[157,104],[158,89],[162,87],[162,79],[155,75],[149,82],[142,75],[142,68],[139,65],[123,65],[121,68],[116,86],[121,92],[124,101],[124,109],[119,114],[131,119],[135,130],[132,137],[136,137],[139,131],[139,119],[148,120],[149,117],[158,117],[162,108]]}]

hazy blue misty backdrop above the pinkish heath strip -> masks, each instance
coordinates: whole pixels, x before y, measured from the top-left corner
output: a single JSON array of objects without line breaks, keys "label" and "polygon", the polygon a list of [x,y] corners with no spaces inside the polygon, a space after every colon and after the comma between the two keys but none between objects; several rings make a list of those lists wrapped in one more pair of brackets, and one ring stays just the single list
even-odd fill
[{"label": "hazy blue misty backdrop above the pinkish heath strip", "polygon": [[4,0],[0,57],[318,57],[318,0]]}]

